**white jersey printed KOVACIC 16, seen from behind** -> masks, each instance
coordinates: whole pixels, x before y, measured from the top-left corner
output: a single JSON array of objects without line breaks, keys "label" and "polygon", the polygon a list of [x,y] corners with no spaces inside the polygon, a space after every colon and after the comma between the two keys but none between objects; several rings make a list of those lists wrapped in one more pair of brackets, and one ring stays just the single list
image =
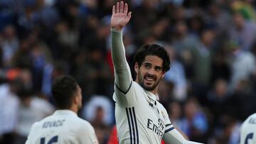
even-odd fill
[{"label": "white jersey printed KOVACIC 16, seen from behind", "polygon": [[98,143],[94,128],[69,110],[58,110],[53,115],[33,124],[26,144],[85,144]]}]

